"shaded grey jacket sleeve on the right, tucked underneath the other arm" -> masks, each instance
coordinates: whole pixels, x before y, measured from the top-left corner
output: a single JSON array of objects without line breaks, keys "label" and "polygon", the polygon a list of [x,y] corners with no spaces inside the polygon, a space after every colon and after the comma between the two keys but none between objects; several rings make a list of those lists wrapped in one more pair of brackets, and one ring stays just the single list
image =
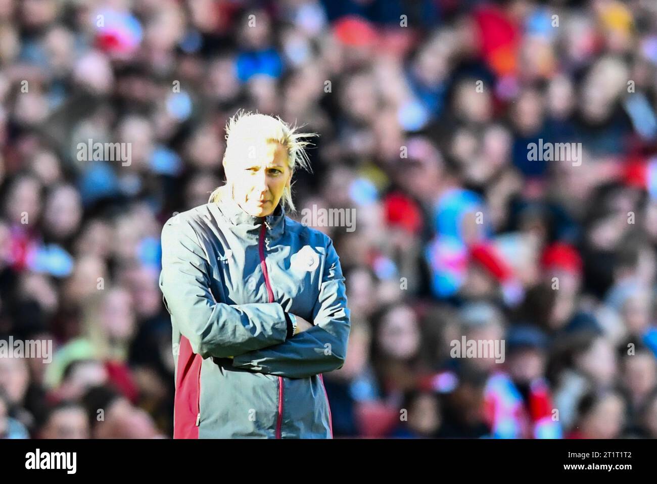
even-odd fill
[{"label": "shaded grey jacket sleeve on the right, tucked underneath the other arm", "polygon": [[328,239],[313,328],[269,348],[233,359],[233,366],[288,378],[307,378],[342,368],[351,328],[340,257]]}]

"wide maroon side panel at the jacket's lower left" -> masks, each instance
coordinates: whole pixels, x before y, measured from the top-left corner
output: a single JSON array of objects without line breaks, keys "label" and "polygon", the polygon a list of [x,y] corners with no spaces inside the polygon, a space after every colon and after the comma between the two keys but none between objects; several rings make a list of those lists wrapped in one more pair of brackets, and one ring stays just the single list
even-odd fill
[{"label": "wide maroon side panel at the jacket's lower left", "polygon": [[173,438],[198,439],[196,418],[200,413],[200,355],[194,354],[185,336],[180,337],[175,401],[173,402]]}]

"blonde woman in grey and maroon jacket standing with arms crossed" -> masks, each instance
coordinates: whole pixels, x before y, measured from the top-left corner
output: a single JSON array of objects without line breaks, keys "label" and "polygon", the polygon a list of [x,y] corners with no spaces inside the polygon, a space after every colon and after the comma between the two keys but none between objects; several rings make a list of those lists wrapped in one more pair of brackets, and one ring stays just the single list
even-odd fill
[{"label": "blonde woman in grey and maroon jacket standing with arms crossed", "polygon": [[330,438],[322,374],[346,356],[344,276],[332,240],[286,217],[313,134],[244,112],[226,131],[226,185],[162,229],[173,437]]}]

